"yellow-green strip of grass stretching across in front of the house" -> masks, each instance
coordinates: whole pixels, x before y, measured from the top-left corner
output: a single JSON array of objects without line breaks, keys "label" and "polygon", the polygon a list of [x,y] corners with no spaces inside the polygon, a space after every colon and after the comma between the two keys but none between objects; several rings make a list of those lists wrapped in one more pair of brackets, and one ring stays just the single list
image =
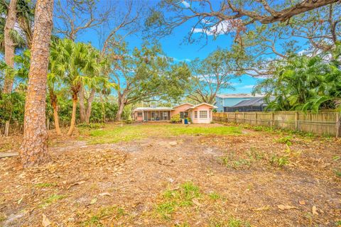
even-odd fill
[{"label": "yellow-green strip of grass stretching across in front of the house", "polygon": [[175,135],[240,135],[242,128],[221,125],[182,125],[171,123],[112,124],[104,128],[80,128],[80,138],[90,144],[117,143],[148,137],[161,138]]}]

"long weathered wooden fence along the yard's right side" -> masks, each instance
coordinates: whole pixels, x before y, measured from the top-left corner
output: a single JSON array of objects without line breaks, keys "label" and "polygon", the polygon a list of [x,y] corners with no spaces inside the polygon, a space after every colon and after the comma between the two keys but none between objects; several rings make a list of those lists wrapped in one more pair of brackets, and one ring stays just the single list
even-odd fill
[{"label": "long weathered wooden fence along the yard's right side", "polygon": [[214,113],[213,120],[341,136],[340,114],[332,111],[318,114],[297,111]]}]

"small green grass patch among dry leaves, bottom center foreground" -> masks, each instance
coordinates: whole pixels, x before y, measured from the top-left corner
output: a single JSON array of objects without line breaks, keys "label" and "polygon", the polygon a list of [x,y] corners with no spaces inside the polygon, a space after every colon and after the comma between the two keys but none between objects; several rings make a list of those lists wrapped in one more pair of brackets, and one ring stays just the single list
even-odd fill
[{"label": "small green grass patch among dry leaves, bottom center foreground", "polygon": [[181,207],[193,206],[193,199],[200,198],[200,189],[193,182],[185,182],[178,189],[168,189],[163,192],[161,199],[155,207],[158,218],[171,220],[172,214]]}]

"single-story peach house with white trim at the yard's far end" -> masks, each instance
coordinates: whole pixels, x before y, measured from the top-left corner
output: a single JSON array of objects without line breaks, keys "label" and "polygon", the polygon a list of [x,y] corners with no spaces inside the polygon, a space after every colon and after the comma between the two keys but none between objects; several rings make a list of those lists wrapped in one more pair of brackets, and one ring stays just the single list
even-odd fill
[{"label": "single-story peach house with white trim at the yard's far end", "polygon": [[171,121],[171,117],[179,114],[181,119],[190,118],[193,123],[210,123],[212,111],[217,106],[211,104],[193,105],[189,103],[174,107],[138,107],[133,111],[135,121]]}]

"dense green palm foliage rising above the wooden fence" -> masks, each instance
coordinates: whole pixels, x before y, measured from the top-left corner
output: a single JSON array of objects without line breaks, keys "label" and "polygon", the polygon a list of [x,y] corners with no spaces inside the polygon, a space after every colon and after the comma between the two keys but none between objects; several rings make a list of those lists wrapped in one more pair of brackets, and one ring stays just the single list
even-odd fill
[{"label": "dense green palm foliage rising above the wooden fence", "polygon": [[[293,55],[278,64],[274,77],[264,79],[254,93],[265,92],[268,109],[318,111],[335,109],[341,100],[340,45],[315,57]],[[274,97],[274,99],[272,98]]]}]

